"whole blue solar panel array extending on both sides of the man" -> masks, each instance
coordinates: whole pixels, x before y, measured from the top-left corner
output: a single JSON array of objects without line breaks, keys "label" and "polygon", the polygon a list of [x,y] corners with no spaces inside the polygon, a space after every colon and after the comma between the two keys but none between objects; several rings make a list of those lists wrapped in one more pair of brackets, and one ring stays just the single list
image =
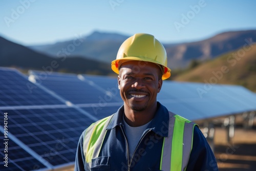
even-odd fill
[{"label": "whole blue solar panel array extending on both sides of the man", "polygon": [[[240,86],[164,81],[158,101],[190,120],[256,110],[255,94]],[[116,78],[0,68],[1,117],[8,113],[8,167],[0,170],[73,164],[82,131],[122,103]],[[4,121],[0,138],[6,139]],[[2,159],[4,149],[1,143]]]}]

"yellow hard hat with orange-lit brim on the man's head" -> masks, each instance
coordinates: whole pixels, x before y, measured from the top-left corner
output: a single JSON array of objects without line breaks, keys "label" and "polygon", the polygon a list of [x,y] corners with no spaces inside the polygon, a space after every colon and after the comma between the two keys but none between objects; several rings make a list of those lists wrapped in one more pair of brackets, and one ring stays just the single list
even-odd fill
[{"label": "yellow hard hat with orange-lit brim on the man's head", "polygon": [[166,51],[161,42],[151,34],[138,33],[127,38],[120,46],[116,60],[111,62],[111,69],[119,74],[121,64],[131,60],[156,63],[163,68],[162,79],[170,77]]}]

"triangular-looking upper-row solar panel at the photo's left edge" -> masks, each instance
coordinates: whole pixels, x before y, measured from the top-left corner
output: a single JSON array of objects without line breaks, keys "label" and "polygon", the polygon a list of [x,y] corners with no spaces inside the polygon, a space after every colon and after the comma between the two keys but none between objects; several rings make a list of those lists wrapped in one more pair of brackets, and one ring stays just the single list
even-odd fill
[{"label": "triangular-looking upper-row solar panel at the photo's left edge", "polygon": [[0,106],[63,104],[14,69],[0,68]]}]

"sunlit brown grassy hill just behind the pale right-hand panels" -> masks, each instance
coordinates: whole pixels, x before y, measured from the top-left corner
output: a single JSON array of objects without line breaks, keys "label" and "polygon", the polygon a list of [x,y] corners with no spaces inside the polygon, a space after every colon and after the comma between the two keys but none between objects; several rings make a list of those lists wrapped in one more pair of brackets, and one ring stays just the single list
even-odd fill
[{"label": "sunlit brown grassy hill just behind the pale right-hand panels", "polygon": [[173,78],[176,81],[210,84],[238,84],[256,92],[256,44],[223,54],[212,61],[187,70]]}]

